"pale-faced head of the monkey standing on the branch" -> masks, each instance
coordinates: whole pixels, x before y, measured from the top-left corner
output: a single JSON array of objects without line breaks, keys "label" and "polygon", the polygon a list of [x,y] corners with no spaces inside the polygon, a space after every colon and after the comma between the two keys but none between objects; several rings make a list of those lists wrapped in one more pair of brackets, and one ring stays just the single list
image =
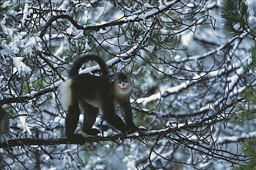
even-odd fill
[{"label": "pale-faced head of the monkey standing on the branch", "polygon": [[130,95],[132,83],[130,78],[124,73],[115,74],[112,79],[112,89],[118,98],[124,98]]}]

